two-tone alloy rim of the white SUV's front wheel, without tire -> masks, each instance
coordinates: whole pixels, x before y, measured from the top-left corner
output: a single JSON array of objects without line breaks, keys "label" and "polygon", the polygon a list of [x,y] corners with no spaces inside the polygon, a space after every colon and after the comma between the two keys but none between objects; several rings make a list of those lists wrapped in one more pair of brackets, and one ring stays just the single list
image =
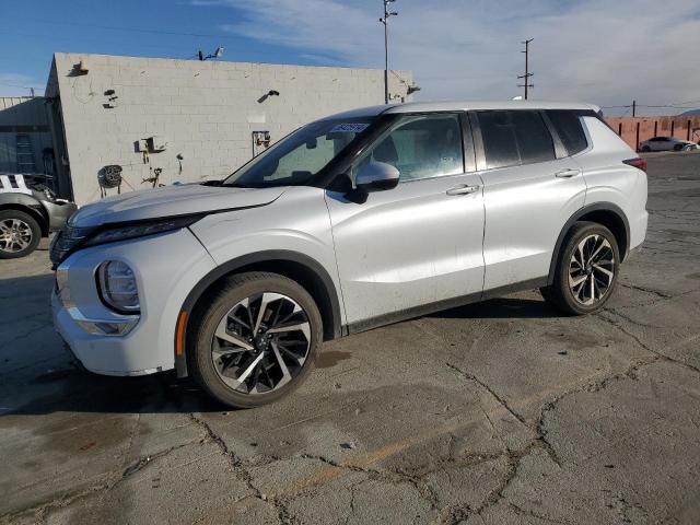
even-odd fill
[{"label": "two-tone alloy rim of the white SUV's front wheel, without tire", "polygon": [[292,381],[311,348],[306,312],[291,298],[264,292],[236,303],[214,331],[219,377],[243,394],[267,394]]}]

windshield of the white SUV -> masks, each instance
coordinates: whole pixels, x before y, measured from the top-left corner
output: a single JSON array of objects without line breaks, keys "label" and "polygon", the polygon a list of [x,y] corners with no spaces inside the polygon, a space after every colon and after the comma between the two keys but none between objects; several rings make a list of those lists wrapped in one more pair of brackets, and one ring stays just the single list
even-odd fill
[{"label": "windshield of the white SUV", "polygon": [[244,188],[304,186],[372,121],[373,117],[312,122],[253,159],[222,184]]}]

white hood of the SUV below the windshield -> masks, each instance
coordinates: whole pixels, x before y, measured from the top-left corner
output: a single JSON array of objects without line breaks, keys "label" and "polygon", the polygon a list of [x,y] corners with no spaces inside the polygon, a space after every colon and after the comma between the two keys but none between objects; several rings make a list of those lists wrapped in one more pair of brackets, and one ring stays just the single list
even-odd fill
[{"label": "white hood of the SUV below the windshield", "polygon": [[284,187],[232,188],[199,184],[144,189],[88,205],[71,217],[70,224],[86,228],[266,206],[282,195],[284,189]]}]

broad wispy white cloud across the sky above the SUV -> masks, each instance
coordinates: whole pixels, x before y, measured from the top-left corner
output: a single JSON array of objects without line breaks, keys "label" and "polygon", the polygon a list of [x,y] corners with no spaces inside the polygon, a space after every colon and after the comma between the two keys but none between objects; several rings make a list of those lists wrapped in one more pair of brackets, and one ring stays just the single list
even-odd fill
[{"label": "broad wispy white cloud across the sky above the SUV", "polygon": [[[348,66],[384,67],[378,0],[212,2],[235,8],[225,31],[335,55]],[[392,9],[399,12],[389,22],[392,68],[412,70],[423,100],[520,94],[527,37],[535,38],[534,97],[604,106],[700,98],[697,0],[397,0]]]}]

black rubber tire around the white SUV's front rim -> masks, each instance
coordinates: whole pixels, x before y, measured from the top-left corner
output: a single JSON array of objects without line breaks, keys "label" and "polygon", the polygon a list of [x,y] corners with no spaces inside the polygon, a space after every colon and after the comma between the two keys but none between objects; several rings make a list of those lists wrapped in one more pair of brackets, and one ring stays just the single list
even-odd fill
[{"label": "black rubber tire around the white SUV's front rim", "polygon": [[[311,340],[307,345],[305,360],[301,368],[294,369],[295,374],[292,376],[291,381],[282,384],[279,387],[271,387],[269,392],[254,394],[238,392],[234,389],[230,384],[226,384],[224,382],[224,380],[226,378],[222,377],[222,372],[218,371],[218,366],[223,364],[221,360],[224,358],[220,357],[217,360],[218,364],[214,364],[214,332],[217,332],[217,328],[220,327],[220,323],[223,323],[224,318],[226,319],[226,332],[229,332],[229,323],[232,319],[232,317],[230,316],[232,308],[238,307],[237,305],[240,305],[241,301],[244,301],[246,298],[256,298],[264,293],[281,294],[287,299],[291,299],[293,302],[295,302],[296,305],[303,311],[303,314],[305,315],[304,318],[308,323],[308,334]],[[253,301],[250,302],[250,304],[253,304]],[[189,335],[187,341],[188,368],[192,374],[192,377],[201,385],[201,387],[209,395],[223,402],[224,405],[235,408],[255,408],[268,402],[276,401],[293,392],[306,378],[306,376],[313,369],[317,348],[323,340],[323,323],[316,303],[308,294],[308,292],[295,281],[280,275],[269,272],[255,271],[234,275],[229,277],[221,288],[208,294],[203,301],[200,301],[200,305],[201,306],[192,312],[191,323],[188,326],[187,330]],[[247,310],[252,312],[252,308],[253,306],[248,307]],[[272,306],[270,306],[270,308],[272,308]],[[253,317],[256,316],[257,314],[253,314],[252,320],[255,320],[253,319]],[[276,317],[276,319],[278,317]],[[250,323],[250,325],[253,325],[253,323]],[[245,330],[242,325],[237,325],[237,328],[242,328]],[[231,336],[230,332],[229,335]],[[248,334],[241,332],[240,338],[245,338],[246,341],[250,341],[250,339],[246,337],[247,335]],[[259,337],[264,336],[265,335],[261,335]],[[282,342],[280,339],[278,339],[278,337],[281,336],[281,334],[277,334],[275,336],[272,336],[272,334],[268,335],[268,337],[273,337],[273,339],[276,339],[278,342]],[[262,369],[265,368],[266,363],[272,363],[270,365],[270,369],[272,370],[273,374],[276,372],[276,365],[278,368],[278,371],[281,371],[279,362],[273,361],[273,359],[276,358],[271,349],[271,343],[266,351],[261,351],[255,342],[252,342],[252,345],[255,345],[255,349],[252,351],[236,351],[236,353],[228,355],[226,358],[231,358],[231,361],[229,361],[229,363],[243,359],[255,361],[256,357],[260,357],[261,353],[267,352],[266,355],[260,357]],[[240,366],[236,365],[233,368],[235,368],[236,370],[243,370],[244,366],[247,369],[250,364],[250,361],[243,362],[245,364],[242,364]],[[290,363],[287,362],[287,364],[289,365]],[[231,366],[231,364],[229,364],[229,366]],[[228,371],[228,369],[225,370]],[[288,372],[291,372],[291,369],[289,369]],[[267,371],[260,373],[264,373],[269,380]],[[253,374],[255,374],[255,372],[253,372]],[[257,375],[255,376],[255,378],[257,378]],[[236,381],[236,377],[234,375],[226,381]],[[245,384],[240,386],[240,388],[247,389],[247,382],[244,383]],[[268,386],[265,385],[265,387],[267,388]]]}]

